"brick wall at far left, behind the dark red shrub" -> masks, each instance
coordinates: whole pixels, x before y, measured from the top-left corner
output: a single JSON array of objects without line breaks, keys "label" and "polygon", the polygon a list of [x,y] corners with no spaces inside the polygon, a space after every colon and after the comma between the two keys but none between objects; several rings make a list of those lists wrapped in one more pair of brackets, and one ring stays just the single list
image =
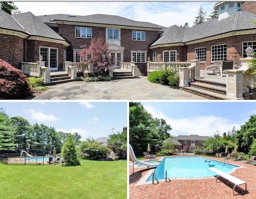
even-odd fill
[{"label": "brick wall at far left, behind the dark red shrub", "polygon": [[0,59],[20,69],[23,61],[23,38],[0,33]]}]

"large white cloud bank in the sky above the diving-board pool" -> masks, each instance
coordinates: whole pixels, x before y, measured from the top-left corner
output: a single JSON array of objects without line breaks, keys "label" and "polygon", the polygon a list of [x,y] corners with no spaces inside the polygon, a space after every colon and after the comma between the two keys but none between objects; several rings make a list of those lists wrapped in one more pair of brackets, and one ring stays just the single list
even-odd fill
[{"label": "large white cloud bank in the sky above the diving-board pool", "polygon": [[174,119],[166,116],[162,111],[144,105],[144,108],[152,114],[153,118],[163,118],[167,124],[172,127],[170,134],[178,135],[192,135],[199,136],[213,136],[214,133],[219,132],[220,136],[228,130],[232,130],[235,126],[236,130],[240,129],[240,124],[236,124],[226,118],[217,116],[200,116],[195,118]]}]

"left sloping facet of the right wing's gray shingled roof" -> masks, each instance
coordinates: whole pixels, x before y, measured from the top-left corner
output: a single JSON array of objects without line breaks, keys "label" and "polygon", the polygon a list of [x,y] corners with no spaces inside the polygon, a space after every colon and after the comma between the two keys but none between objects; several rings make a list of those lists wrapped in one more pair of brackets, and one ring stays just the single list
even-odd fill
[{"label": "left sloping facet of the right wing's gray shingled roof", "polygon": [[186,29],[178,27],[176,25],[170,26],[164,33],[160,35],[160,38],[155,41],[151,46],[167,43],[183,43]]}]

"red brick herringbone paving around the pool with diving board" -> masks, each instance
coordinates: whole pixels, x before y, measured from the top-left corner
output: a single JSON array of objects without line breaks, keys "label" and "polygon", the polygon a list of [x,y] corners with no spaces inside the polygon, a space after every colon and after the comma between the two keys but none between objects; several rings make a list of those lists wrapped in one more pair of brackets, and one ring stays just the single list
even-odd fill
[{"label": "red brick herringbone paving around the pool with diving board", "polygon": [[[160,158],[160,157],[159,157]],[[213,160],[222,160],[222,158],[211,158]],[[230,183],[222,177],[210,179],[181,180],[173,179],[168,183],[159,182],[156,185],[139,185],[136,183],[148,172],[146,167],[134,168],[129,163],[129,198],[130,199],[228,199],[228,198],[256,198],[256,166],[241,161],[228,160],[228,163],[244,166],[244,168],[236,169],[231,175],[247,182],[247,190],[245,185],[240,185],[235,189],[233,196],[234,184]]]}]

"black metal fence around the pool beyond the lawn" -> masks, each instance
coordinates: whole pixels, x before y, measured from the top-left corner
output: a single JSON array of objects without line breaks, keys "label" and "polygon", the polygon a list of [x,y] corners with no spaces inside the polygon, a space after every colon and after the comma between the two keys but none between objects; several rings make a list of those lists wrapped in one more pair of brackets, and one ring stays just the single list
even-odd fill
[{"label": "black metal fence around the pool beyond the lawn", "polygon": [[8,156],[0,155],[0,162],[6,165],[54,165],[62,162],[61,157],[49,156]]}]

